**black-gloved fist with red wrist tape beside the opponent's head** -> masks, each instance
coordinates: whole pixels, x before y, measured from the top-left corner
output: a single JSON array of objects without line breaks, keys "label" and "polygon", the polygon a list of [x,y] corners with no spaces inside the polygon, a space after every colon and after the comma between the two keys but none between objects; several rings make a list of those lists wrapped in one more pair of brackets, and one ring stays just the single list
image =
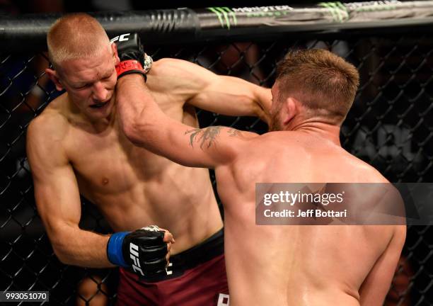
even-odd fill
[{"label": "black-gloved fist with red wrist tape beside the opponent's head", "polygon": [[117,45],[117,55],[120,58],[120,63],[116,65],[117,79],[126,74],[138,73],[142,74],[146,81],[146,72],[150,69],[151,57],[145,55],[139,35],[126,33],[112,38],[111,42]]}]

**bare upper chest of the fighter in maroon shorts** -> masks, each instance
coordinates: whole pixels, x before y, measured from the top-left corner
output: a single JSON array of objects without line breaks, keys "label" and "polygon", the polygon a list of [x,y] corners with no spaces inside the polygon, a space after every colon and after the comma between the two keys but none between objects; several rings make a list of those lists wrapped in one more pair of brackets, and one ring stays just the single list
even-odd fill
[{"label": "bare upper chest of the fighter in maroon shorts", "polygon": [[140,181],[154,179],[169,165],[167,159],[135,147],[120,131],[81,134],[75,139],[69,158],[80,189],[119,193]]}]

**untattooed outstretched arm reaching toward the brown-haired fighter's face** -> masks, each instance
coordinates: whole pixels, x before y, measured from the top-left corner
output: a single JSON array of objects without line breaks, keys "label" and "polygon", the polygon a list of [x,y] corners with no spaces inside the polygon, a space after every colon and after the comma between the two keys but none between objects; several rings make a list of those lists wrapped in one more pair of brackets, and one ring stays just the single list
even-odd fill
[{"label": "untattooed outstretched arm reaching toward the brown-haired fighter's face", "polygon": [[149,84],[153,91],[170,91],[205,111],[257,116],[266,123],[269,120],[270,89],[237,77],[214,74],[185,60],[158,60],[149,73]]}]

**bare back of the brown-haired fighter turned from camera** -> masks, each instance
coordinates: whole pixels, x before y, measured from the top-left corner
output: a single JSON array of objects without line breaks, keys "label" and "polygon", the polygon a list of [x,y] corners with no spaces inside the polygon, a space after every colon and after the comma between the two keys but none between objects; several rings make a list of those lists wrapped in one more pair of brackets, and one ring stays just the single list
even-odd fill
[{"label": "bare back of the brown-haired fighter turned from camera", "polygon": [[376,169],[321,136],[291,131],[253,138],[217,171],[231,305],[381,305],[404,227],[255,225],[254,212],[255,183],[387,182]]}]

